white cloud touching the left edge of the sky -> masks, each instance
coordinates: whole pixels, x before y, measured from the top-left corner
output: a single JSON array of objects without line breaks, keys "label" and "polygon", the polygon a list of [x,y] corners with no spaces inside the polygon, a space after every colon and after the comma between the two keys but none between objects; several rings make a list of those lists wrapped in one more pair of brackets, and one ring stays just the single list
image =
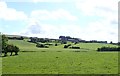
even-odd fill
[{"label": "white cloud touching the left edge of the sky", "polygon": [[25,20],[27,16],[23,11],[8,8],[5,2],[0,2],[0,19],[4,20]]}]

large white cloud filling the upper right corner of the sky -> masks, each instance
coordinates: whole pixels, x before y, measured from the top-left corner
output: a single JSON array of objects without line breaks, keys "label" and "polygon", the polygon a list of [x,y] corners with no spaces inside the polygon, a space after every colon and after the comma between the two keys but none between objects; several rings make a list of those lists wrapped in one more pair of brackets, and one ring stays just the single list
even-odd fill
[{"label": "large white cloud filling the upper right corner of the sky", "polygon": [[118,21],[118,0],[84,0],[76,8],[86,16],[103,17],[105,21]]}]

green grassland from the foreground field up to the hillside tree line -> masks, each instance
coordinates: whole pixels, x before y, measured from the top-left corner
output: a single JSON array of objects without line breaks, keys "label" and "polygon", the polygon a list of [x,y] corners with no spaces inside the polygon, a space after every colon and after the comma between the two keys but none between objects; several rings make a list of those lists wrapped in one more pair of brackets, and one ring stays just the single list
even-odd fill
[{"label": "green grassland from the foreground field up to the hillside tree line", "polygon": [[[64,49],[63,44],[37,48],[23,40],[9,40],[20,48],[18,56],[2,58],[3,74],[117,74],[118,52],[97,52],[99,43],[80,43],[81,49]],[[74,45],[74,44],[72,44]]]}]

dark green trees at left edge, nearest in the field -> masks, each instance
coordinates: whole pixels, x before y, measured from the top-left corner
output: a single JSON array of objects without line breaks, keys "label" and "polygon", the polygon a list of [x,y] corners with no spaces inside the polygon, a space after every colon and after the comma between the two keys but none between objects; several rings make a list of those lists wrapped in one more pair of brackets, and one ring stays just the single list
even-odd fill
[{"label": "dark green trees at left edge, nearest in the field", "polygon": [[8,38],[5,35],[2,35],[2,53],[4,53],[4,56],[7,56],[8,52],[11,53],[10,56],[12,56],[13,52],[15,52],[15,55],[18,55],[19,51],[17,46],[8,44]]}]

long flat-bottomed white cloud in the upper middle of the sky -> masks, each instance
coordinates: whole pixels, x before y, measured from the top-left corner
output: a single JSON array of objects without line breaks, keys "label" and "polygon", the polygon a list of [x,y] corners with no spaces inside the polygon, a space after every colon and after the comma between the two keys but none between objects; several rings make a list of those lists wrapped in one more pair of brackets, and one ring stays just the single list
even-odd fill
[{"label": "long flat-bottomed white cloud in the upper middle of the sky", "polygon": [[71,15],[70,12],[64,9],[58,9],[55,11],[47,11],[47,10],[34,10],[31,13],[31,18],[39,19],[39,20],[58,20],[58,19],[66,19],[66,20],[77,20],[76,16]]}]

